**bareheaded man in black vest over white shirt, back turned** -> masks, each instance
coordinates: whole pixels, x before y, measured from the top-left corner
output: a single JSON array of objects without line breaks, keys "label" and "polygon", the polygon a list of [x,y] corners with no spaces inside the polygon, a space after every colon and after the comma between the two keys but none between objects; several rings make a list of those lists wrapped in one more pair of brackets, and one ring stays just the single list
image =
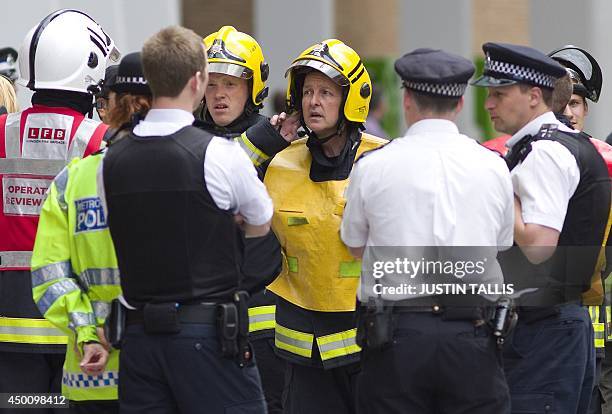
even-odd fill
[{"label": "bareheaded man in black vest over white shirt, back turned", "polygon": [[[142,49],[153,105],[109,147],[104,197],[129,308],[119,397],[125,413],[265,412],[236,222],[269,231],[272,204],[240,146],[192,127],[208,81],[202,39],[182,27]],[[171,65],[168,62],[172,62]]]}]

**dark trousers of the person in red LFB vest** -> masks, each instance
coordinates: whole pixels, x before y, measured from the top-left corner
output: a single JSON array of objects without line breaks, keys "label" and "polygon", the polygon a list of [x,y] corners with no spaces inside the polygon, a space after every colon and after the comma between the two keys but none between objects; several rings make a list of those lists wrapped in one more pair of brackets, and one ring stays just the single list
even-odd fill
[{"label": "dark trousers of the person in red LFB vest", "polygon": [[[0,393],[61,393],[63,354],[0,352]],[[67,414],[66,409],[3,409],[7,414]]]}]

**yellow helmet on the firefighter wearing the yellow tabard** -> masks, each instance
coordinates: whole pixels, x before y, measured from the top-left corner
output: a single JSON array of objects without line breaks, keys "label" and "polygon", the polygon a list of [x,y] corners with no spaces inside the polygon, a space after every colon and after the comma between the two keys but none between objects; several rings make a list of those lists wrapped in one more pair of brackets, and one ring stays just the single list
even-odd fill
[{"label": "yellow helmet on the firefighter wearing the yellow tabard", "polygon": [[344,117],[352,122],[365,122],[370,107],[372,81],[357,52],[340,40],[327,39],[300,53],[285,73],[287,106],[290,110],[301,107],[302,91],[296,86],[296,75],[308,68],[318,70],[338,85],[348,88]]}]

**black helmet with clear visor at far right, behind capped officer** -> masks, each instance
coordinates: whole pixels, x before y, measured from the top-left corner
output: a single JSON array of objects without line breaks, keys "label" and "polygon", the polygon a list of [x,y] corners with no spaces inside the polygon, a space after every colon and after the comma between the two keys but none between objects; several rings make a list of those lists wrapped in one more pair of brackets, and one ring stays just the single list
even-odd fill
[{"label": "black helmet with clear visor at far right, behind capped officer", "polygon": [[595,58],[586,50],[567,45],[548,54],[568,69],[574,82],[574,93],[593,102],[599,100],[603,76]]}]

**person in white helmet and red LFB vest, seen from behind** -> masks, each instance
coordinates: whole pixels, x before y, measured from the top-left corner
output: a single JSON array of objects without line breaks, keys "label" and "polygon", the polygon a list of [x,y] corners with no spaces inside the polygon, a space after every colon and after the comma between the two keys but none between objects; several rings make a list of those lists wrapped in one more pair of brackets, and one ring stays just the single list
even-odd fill
[{"label": "person in white helmet and red LFB vest, seen from behind", "polygon": [[[112,39],[77,10],[50,14],[29,31],[21,45],[17,82],[34,91],[32,107],[0,117],[3,392],[59,392],[67,338],[41,314],[77,285],[73,281],[60,284],[34,303],[31,251],[51,180],[69,160],[100,147],[107,127],[85,114],[93,111],[93,93],[107,61],[118,58]],[[55,270],[59,269],[44,272],[40,282],[52,280]]]}]

